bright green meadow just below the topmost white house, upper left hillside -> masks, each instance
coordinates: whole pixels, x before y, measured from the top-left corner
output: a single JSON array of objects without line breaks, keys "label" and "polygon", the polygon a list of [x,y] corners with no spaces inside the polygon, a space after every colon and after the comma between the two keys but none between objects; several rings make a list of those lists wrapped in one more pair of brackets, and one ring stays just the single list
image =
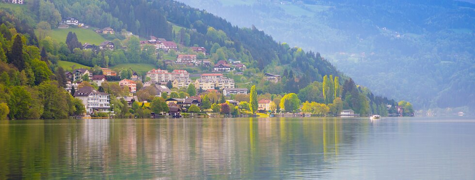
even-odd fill
[{"label": "bright green meadow just below the topmost white house, upper left hillside", "polygon": [[102,37],[98,33],[95,33],[91,29],[82,28],[54,29],[50,33],[50,36],[58,42],[65,42],[66,36],[69,32],[76,33],[79,42],[81,42],[82,44],[89,43],[99,45],[106,40],[104,39],[104,37]]}]

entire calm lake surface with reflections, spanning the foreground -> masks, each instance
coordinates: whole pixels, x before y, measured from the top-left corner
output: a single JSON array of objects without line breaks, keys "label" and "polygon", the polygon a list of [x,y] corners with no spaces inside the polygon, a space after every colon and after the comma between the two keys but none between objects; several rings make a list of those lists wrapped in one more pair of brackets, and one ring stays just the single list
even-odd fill
[{"label": "entire calm lake surface with reflections, spanning the foreground", "polygon": [[0,179],[475,179],[475,119],[0,121]]}]

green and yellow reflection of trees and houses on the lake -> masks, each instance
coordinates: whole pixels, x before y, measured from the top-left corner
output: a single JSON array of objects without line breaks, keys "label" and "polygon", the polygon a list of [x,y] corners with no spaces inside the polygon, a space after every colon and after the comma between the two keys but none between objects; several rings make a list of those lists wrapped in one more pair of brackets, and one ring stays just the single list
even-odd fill
[{"label": "green and yellow reflection of trees and houses on the lake", "polygon": [[[0,179],[298,178],[299,171],[318,172],[336,163],[342,130],[348,128],[334,118],[66,120],[0,126],[0,146],[6,147],[0,155]],[[295,174],[279,174],[287,171]]]}]

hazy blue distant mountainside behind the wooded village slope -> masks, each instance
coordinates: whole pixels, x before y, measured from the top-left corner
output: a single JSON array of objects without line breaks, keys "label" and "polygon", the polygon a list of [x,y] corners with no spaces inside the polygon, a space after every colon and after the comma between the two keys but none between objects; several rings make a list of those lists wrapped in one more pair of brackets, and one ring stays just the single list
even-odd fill
[{"label": "hazy blue distant mountainside behind the wooded village slope", "polygon": [[180,0],[318,51],[375,94],[475,107],[475,4],[452,0]]}]

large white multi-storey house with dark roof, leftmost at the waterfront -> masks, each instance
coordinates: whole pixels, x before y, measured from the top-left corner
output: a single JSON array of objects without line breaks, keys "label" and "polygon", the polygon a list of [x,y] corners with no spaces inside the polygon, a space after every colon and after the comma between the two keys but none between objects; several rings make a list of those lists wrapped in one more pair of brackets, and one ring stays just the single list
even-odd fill
[{"label": "large white multi-storey house with dark roof, leftmost at the waterfront", "polygon": [[82,100],[87,114],[95,112],[108,113],[109,108],[111,108],[109,94],[101,93],[90,86],[80,88],[73,96]]}]

